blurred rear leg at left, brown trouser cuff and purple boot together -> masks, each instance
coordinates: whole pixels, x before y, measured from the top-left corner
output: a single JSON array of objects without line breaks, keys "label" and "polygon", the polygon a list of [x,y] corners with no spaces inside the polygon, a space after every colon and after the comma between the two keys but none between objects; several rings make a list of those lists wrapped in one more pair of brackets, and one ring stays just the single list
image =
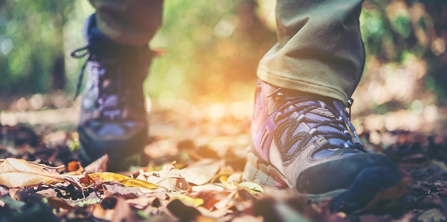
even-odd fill
[{"label": "blurred rear leg at left, brown trouser cuff and purple boot together", "polygon": [[162,0],[91,3],[97,11],[84,25],[87,45],[72,54],[87,56],[76,90],[77,95],[85,69],[80,151],[84,163],[108,154],[109,163],[118,169],[143,150],[148,136],[143,82],[153,57],[149,41],[161,23]]}]

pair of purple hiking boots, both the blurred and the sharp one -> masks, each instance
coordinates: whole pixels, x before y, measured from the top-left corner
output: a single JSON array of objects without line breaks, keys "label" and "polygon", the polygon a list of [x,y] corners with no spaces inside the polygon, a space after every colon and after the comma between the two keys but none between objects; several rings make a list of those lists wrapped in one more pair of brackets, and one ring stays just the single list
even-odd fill
[{"label": "pair of purple hiking boots, both the blurred and the sharp one", "polygon": [[[143,81],[152,53],[147,46],[114,43],[96,28],[84,27],[87,82],[81,93],[78,126],[81,155],[91,162],[108,154],[124,162],[139,154],[148,135]],[[251,125],[252,144],[244,179],[291,187],[311,199],[332,198],[333,211],[353,212],[384,191],[397,189],[402,176],[387,157],[368,153],[341,101],[306,95],[258,81]]]}]

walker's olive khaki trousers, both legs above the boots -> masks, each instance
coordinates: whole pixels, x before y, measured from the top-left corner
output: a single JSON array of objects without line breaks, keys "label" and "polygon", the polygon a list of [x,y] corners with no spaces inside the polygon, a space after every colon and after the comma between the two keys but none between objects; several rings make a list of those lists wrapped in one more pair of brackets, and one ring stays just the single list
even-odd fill
[{"label": "walker's olive khaki trousers, both legs above the boots", "polygon": [[[90,0],[99,30],[130,45],[148,44],[161,25],[162,1]],[[258,77],[346,103],[365,63],[359,24],[363,1],[277,0],[278,43],[261,59]]]}]

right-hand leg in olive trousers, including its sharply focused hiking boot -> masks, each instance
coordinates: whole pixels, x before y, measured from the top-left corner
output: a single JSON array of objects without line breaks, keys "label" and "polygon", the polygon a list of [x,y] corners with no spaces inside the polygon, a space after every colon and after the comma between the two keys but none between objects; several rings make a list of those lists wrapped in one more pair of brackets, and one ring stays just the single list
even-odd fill
[{"label": "right-hand leg in olive trousers, including its sharply focused hiking boot", "polygon": [[259,64],[244,179],[332,198],[347,213],[405,194],[397,166],[365,150],[345,110],[365,60],[362,1],[277,1],[278,43]]}]

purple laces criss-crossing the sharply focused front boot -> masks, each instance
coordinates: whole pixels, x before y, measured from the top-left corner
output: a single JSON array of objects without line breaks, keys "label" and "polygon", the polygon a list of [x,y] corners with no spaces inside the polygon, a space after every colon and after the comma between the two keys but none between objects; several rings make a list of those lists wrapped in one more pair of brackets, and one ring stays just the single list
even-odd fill
[{"label": "purple laces criss-crossing the sharply focused front boot", "polygon": [[[363,148],[363,144],[360,140],[359,135],[357,134],[354,126],[351,123],[350,117],[348,117],[348,113],[344,108],[344,105],[341,101],[335,100],[333,102],[333,106],[328,106],[324,102],[321,101],[315,101],[315,98],[312,98],[311,96],[292,96],[292,97],[285,97],[281,98],[280,100],[283,101],[282,105],[279,106],[278,111],[280,112],[279,116],[277,117],[280,121],[281,119],[288,118],[292,113],[296,111],[300,111],[300,115],[298,116],[299,122],[306,122],[306,123],[313,123],[314,126],[308,131],[311,135],[322,135],[325,137],[325,139],[330,138],[338,138],[345,141],[351,141],[354,145],[355,149],[365,151]],[[292,108],[291,108],[292,107]],[[334,118],[327,118],[326,116],[323,116],[322,114],[319,114],[317,112],[312,112],[312,114],[327,118],[324,120],[315,120],[312,118],[309,118],[306,116],[306,114],[310,111],[313,111],[318,108],[323,108],[328,111],[330,111],[332,114],[334,114]],[[338,116],[337,116],[338,115]],[[349,131],[345,128],[344,124],[351,130],[351,132],[354,134],[352,136]],[[339,132],[336,131],[324,131],[324,130],[318,130],[317,128],[320,126],[328,126],[332,127]],[[346,143],[345,143],[346,144]],[[340,145],[333,145],[330,144],[330,148],[346,148],[347,145],[340,144]]]}]

